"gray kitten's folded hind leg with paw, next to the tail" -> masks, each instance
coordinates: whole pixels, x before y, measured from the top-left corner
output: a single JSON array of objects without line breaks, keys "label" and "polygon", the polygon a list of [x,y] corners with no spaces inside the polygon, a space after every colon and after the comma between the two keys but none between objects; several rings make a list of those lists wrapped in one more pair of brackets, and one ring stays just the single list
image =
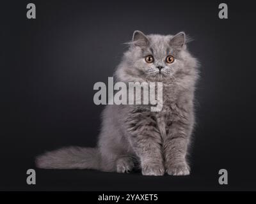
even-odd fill
[{"label": "gray kitten's folded hind leg with paw, next to the tail", "polygon": [[101,170],[118,173],[128,173],[134,168],[134,152],[120,122],[122,107],[106,106],[103,112],[102,129],[99,135],[98,147],[101,158]]}]

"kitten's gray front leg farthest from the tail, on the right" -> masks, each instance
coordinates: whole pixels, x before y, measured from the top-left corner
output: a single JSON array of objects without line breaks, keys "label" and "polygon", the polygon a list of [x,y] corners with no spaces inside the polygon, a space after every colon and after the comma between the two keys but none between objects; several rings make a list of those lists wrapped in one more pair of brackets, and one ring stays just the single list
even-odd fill
[{"label": "kitten's gray front leg farthest from the tail, on the right", "polygon": [[163,141],[164,166],[169,175],[189,175],[186,161],[189,138],[193,122],[179,118],[175,122],[167,122],[166,138]]}]

